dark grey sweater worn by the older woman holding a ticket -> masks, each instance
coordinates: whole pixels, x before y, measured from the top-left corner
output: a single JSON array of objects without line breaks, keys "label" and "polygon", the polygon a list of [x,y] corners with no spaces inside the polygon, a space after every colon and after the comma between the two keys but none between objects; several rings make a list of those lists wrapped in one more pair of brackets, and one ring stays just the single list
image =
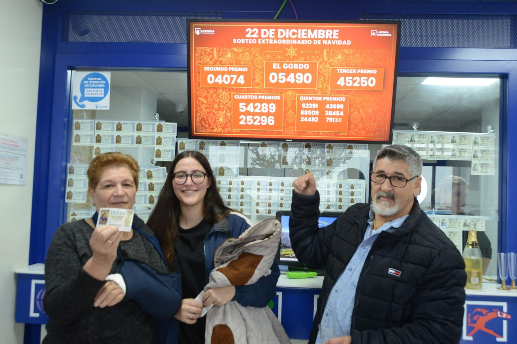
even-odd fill
[{"label": "dark grey sweater worn by the older woman holding a ticket", "polygon": [[[49,323],[43,342],[152,343],[153,318],[136,302],[123,300],[112,307],[94,307],[95,296],[106,282],[82,269],[92,257],[89,240],[93,231],[82,220],[63,224],[54,233],[45,259],[43,304]],[[134,230],[133,237],[120,245],[129,257],[158,272],[168,272],[156,248],[138,231]],[[119,263],[117,256],[110,273],[115,273]]]}]

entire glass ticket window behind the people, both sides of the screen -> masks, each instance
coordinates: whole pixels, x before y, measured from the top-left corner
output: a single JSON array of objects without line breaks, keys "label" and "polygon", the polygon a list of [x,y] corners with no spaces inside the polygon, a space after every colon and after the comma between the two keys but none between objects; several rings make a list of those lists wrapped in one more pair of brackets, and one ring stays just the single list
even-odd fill
[{"label": "entire glass ticket window behind the people, both sides of the screen", "polygon": [[[170,160],[187,149],[207,155],[225,203],[255,223],[290,210],[292,182],[307,171],[316,177],[322,211],[343,212],[370,201],[368,176],[381,145],[189,140],[186,79],[184,71],[112,71],[109,110],[72,111],[66,198],[69,192],[73,196],[67,200],[66,220],[90,216],[94,208],[81,171],[98,152],[109,150],[131,154],[143,168],[135,209],[144,220],[158,200]],[[393,142],[421,154],[421,208],[460,251],[465,233],[475,227],[485,276],[496,278],[492,257],[499,224],[499,79],[400,76],[396,95]],[[204,120],[218,120],[214,114],[223,113],[215,104],[227,99],[223,94],[214,97],[219,101],[200,104],[205,106]],[[93,144],[83,142],[82,134],[89,132],[82,120],[94,121]],[[171,123],[176,123],[174,133]],[[105,143],[105,137],[113,144]]]}]

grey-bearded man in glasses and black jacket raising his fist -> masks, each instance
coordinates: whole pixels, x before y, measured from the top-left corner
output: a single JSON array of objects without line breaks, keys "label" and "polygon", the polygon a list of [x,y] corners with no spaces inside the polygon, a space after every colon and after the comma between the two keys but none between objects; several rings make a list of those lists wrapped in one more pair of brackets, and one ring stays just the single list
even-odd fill
[{"label": "grey-bearded man in glasses and black jacket raising his fist", "polygon": [[372,203],[353,205],[323,228],[314,176],[294,181],[294,253],[327,272],[309,343],[460,340],[465,264],[418,205],[421,173],[412,148],[383,148],[370,173]]}]

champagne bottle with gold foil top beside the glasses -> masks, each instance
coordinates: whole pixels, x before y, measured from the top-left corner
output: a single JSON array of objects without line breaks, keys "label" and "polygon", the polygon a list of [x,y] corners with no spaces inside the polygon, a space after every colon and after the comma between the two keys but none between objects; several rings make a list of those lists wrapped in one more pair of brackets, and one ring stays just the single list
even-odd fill
[{"label": "champagne bottle with gold foil top beside the glasses", "polygon": [[483,257],[478,244],[478,234],[475,228],[468,232],[467,244],[463,250],[465,271],[467,273],[468,289],[481,289],[483,280]]}]

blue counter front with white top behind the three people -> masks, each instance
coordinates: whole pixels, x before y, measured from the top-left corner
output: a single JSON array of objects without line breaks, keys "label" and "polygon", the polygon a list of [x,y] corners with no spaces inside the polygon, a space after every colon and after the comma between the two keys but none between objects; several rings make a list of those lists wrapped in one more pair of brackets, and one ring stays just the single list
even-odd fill
[{"label": "blue counter front with white top behind the three people", "polygon": [[[16,270],[18,287],[16,322],[45,324],[44,265],[34,264]],[[289,279],[281,275],[273,312],[291,339],[308,339],[320,296],[323,277]],[[468,290],[463,317],[461,344],[517,342],[517,290],[497,290],[496,284],[484,284],[481,290]]]}]

